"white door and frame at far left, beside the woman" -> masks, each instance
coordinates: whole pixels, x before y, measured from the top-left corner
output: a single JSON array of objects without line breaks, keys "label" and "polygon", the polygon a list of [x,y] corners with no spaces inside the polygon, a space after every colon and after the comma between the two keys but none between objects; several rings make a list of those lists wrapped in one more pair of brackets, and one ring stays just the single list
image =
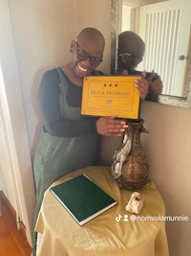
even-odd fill
[{"label": "white door and frame at far left, beside the woman", "polygon": [[[32,244],[35,193],[10,2],[0,1],[0,175],[5,193]],[[18,221],[18,220],[17,220]]]}]

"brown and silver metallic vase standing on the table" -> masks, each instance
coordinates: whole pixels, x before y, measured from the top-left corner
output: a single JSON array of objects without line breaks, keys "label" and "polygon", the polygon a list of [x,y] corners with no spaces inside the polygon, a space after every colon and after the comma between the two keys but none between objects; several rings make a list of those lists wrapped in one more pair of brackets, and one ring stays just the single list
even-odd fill
[{"label": "brown and silver metallic vase standing on the table", "polygon": [[143,119],[127,121],[121,144],[113,157],[112,175],[120,188],[137,190],[148,181],[149,166],[140,145],[140,133],[148,132],[143,128]]}]

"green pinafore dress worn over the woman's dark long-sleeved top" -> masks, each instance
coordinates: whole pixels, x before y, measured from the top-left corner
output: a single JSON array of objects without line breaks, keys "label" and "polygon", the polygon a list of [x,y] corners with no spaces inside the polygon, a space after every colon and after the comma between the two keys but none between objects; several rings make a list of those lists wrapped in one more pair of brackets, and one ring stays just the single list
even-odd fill
[{"label": "green pinafore dress worn over the woman's dark long-sleeved top", "polygon": [[[81,120],[80,106],[70,106],[67,102],[69,89],[66,75],[60,68],[56,69],[60,80],[59,106],[63,120]],[[50,103],[51,105],[51,103]],[[91,119],[90,119],[91,120]],[[91,122],[91,121],[90,121]],[[77,126],[77,122],[74,122]],[[77,136],[63,137],[42,131],[37,143],[33,162],[33,174],[36,189],[36,221],[45,191],[62,175],[74,170],[95,165],[97,155],[98,134],[96,129],[91,132],[80,132]]]}]

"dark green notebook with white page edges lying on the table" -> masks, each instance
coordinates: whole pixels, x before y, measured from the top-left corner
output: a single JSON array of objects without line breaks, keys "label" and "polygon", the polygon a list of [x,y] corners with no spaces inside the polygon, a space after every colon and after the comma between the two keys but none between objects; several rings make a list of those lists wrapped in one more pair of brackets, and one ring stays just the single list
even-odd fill
[{"label": "dark green notebook with white page edges lying on the table", "polygon": [[79,225],[91,221],[117,204],[87,175],[78,175],[54,186],[51,192]]}]

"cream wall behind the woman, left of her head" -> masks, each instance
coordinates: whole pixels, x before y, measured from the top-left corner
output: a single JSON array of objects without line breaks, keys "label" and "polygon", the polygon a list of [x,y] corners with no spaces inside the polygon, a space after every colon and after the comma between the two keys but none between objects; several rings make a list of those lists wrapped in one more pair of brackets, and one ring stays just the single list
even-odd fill
[{"label": "cream wall behind the woman, left of her head", "polygon": [[[69,61],[75,0],[10,1],[11,21],[32,154],[38,130],[36,93],[45,70]],[[39,129],[39,126],[38,126]]]}]

